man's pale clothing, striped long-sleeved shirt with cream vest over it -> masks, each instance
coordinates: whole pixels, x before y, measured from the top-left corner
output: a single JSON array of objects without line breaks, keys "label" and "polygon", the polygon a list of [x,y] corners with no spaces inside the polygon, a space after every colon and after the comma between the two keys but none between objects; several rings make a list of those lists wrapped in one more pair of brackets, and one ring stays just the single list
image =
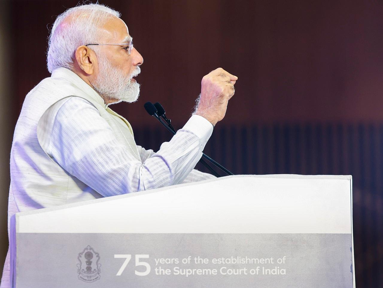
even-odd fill
[{"label": "man's pale clothing, striped long-sleeved shirt with cream vest over it", "polygon": [[[9,218],[16,212],[213,178],[193,170],[213,126],[194,115],[154,153],[80,77],[53,71],[25,98],[11,149]],[[9,284],[9,255],[1,288]]]}]

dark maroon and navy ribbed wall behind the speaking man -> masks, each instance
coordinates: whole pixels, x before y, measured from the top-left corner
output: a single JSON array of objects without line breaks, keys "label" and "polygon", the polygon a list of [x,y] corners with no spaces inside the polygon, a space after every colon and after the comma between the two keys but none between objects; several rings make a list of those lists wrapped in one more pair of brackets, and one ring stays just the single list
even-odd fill
[{"label": "dark maroon and navy ribbed wall behind the speaking man", "polygon": [[[23,99],[44,77],[48,29],[77,0],[2,3],[3,175]],[[112,108],[136,141],[169,136],[142,108],[160,101],[175,127],[187,121],[203,75],[223,67],[236,95],[206,152],[236,174],[351,174],[359,287],[383,276],[383,3],[379,1],[116,1],[144,57],[141,97]],[[4,76],[4,77],[6,77]],[[2,77],[3,79],[6,79]],[[6,91],[6,90],[4,90]],[[3,180],[6,229],[9,176]],[[7,235],[1,234],[2,257]]]}]

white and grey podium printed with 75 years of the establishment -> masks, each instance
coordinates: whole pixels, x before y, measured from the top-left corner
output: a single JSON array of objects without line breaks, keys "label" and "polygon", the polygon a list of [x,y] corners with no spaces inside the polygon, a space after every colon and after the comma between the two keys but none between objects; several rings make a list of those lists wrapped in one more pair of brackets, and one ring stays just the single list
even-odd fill
[{"label": "white and grey podium printed with 75 years of the establishment", "polygon": [[352,178],[235,175],[21,212],[23,287],[355,287]]}]

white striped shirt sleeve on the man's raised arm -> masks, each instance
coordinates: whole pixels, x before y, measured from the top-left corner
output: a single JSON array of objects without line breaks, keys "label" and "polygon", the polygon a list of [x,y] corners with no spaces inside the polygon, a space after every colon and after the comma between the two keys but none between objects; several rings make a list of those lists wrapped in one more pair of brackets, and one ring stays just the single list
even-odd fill
[{"label": "white striped shirt sleeve on the man's raised arm", "polygon": [[213,132],[209,121],[194,115],[156,153],[139,149],[141,162],[118,143],[98,110],[82,98],[65,101],[52,123],[48,154],[103,196],[182,183]]}]

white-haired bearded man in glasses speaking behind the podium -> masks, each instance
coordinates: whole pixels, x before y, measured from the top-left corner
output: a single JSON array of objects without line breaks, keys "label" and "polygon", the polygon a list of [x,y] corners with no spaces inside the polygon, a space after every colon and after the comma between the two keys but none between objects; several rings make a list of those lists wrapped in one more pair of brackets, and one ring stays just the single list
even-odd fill
[{"label": "white-haired bearded man in glasses speaking behind the podium", "polygon": [[[89,4],[57,17],[47,56],[52,75],[28,93],[15,128],[8,217],[213,177],[193,168],[237,77],[221,68],[203,77],[185,126],[156,153],[137,146],[129,122],[108,107],[137,100],[133,77],[143,62],[119,16]],[[2,288],[10,286],[9,269],[7,255]]]}]

